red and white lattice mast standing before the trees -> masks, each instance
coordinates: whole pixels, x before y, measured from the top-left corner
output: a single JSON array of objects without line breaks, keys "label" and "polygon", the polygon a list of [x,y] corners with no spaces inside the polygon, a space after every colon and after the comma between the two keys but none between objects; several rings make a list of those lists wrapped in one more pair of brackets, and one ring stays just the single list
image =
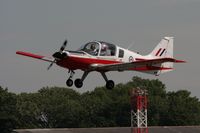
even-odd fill
[{"label": "red and white lattice mast standing before the trees", "polygon": [[147,91],[140,88],[131,92],[131,132],[148,133]]}]

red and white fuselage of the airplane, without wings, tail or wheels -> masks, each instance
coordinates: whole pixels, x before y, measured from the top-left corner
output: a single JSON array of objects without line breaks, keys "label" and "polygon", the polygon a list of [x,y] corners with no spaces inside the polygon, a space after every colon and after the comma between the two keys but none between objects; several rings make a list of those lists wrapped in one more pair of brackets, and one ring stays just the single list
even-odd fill
[{"label": "red and white fuselage of the airplane, without wings, tail or wheels", "polygon": [[[87,45],[96,44],[98,50],[96,54],[90,53]],[[107,45],[108,54],[102,54],[103,45]],[[109,49],[110,48],[110,49]],[[138,53],[130,51],[128,49],[121,48],[119,46],[105,43],[105,42],[89,42],[82,46],[78,51],[63,51],[66,53],[67,57],[57,61],[57,65],[70,69],[76,70],[81,69],[83,71],[90,69],[91,65],[105,65],[105,64],[118,64],[125,62],[133,62],[137,60],[145,60],[149,59],[149,56],[142,56]],[[137,68],[133,68],[130,70],[137,70]]]}]

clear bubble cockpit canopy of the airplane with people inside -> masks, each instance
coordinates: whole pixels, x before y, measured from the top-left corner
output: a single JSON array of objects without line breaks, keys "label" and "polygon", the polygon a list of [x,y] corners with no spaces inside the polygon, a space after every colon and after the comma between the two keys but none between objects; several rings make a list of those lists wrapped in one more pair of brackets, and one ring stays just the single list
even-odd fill
[{"label": "clear bubble cockpit canopy of the airplane with people inside", "polygon": [[93,56],[115,56],[116,46],[107,42],[89,42],[83,45],[79,51],[84,51]]}]

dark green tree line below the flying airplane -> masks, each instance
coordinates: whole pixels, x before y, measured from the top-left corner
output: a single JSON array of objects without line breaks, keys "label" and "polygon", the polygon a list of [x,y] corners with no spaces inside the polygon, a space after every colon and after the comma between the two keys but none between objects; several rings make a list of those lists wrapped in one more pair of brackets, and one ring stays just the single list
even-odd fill
[{"label": "dark green tree line below the flying airplane", "polygon": [[133,77],[113,90],[97,87],[78,93],[45,87],[15,94],[0,87],[0,132],[14,128],[77,128],[130,126],[130,90],[148,90],[148,125],[200,125],[200,101],[187,90],[167,92],[159,80]]}]

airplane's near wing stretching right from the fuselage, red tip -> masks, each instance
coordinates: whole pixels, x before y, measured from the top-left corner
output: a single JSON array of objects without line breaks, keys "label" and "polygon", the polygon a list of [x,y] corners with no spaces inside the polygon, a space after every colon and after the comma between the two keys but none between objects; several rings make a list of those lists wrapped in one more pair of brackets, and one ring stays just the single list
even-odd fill
[{"label": "airplane's near wing stretching right from the fuselage, red tip", "polygon": [[92,67],[94,70],[97,70],[97,71],[124,71],[124,70],[130,70],[136,67],[152,66],[156,64],[165,63],[165,62],[184,63],[185,61],[176,60],[173,58],[158,58],[158,59],[141,60],[141,61],[134,61],[134,62],[128,62],[128,63],[95,65]]}]

